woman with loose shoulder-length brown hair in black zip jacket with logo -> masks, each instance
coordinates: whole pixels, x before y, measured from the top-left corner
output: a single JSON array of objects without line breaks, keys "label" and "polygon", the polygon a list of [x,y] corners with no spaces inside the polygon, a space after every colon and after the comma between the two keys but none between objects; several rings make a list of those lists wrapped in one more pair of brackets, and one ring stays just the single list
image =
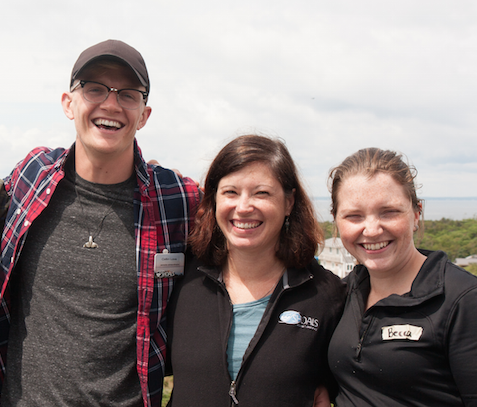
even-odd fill
[{"label": "woman with loose shoulder-length brown hair in black zip jacket with logo", "polygon": [[322,240],[282,142],[242,136],[219,152],[168,305],[171,406],[329,406],[345,290],[314,258]]}]

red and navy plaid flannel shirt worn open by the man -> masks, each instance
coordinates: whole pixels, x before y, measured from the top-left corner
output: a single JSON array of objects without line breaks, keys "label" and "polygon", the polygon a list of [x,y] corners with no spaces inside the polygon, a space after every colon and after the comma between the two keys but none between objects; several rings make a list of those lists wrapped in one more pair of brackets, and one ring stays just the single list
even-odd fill
[{"label": "red and navy plaid flannel shirt worn open by the man", "polygon": [[[8,281],[21,254],[31,223],[48,205],[64,177],[63,165],[71,150],[36,148],[5,180],[11,196],[1,245],[0,270],[0,386],[10,326]],[[137,371],[144,405],[160,407],[165,368],[165,307],[173,279],[154,277],[154,256],[167,249],[185,252],[186,240],[200,195],[195,183],[173,171],[147,165],[135,142],[134,225],[138,277]],[[0,387],[1,389],[1,387]]]}]

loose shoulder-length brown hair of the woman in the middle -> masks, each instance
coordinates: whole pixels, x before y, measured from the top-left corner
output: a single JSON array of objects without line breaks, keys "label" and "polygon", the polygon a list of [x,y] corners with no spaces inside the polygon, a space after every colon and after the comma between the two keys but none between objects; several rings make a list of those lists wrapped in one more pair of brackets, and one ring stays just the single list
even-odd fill
[{"label": "loose shoulder-length brown hair of the woman in the middle", "polygon": [[305,192],[285,144],[278,139],[255,134],[235,138],[222,148],[212,162],[189,240],[192,251],[208,265],[221,266],[225,263],[227,242],[215,218],[217,187],[226,175],[255,162],[269,166],[285,195],[295,191],[289,228],[287,231],[284,225],[280,231],[276,256],[287,267],[304,267],[313,259],[318,245],[323,243],[323,231],[316,219],[313,203]]}]

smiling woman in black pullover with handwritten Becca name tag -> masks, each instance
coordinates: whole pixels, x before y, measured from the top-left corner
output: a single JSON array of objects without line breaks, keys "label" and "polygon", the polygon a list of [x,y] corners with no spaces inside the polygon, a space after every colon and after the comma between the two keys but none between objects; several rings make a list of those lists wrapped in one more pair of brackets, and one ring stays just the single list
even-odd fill
[{"label": "smiling woman in black pullover with handwritten Becca name tag", "polygon": [[359,263],[330,343],[337,407],[477,406],[477,278],[415,247],[414,178],[377,148],[330,172],[332,214]]}]

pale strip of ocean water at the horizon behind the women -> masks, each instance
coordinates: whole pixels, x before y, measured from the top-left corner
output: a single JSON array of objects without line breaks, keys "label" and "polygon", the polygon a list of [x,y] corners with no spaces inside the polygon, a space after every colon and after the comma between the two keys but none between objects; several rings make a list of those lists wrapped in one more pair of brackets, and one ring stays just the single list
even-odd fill
[{"label": "pale strip of ocean water at the horizon behind the women", "polygon": [[[477,197],[475,198],[423,198],[424,219],[441,220],[442,218],[462,220],[477,218]],[[331,200],[314,198],[313,203],[322,221],[332,221],[330,215]]]}]

